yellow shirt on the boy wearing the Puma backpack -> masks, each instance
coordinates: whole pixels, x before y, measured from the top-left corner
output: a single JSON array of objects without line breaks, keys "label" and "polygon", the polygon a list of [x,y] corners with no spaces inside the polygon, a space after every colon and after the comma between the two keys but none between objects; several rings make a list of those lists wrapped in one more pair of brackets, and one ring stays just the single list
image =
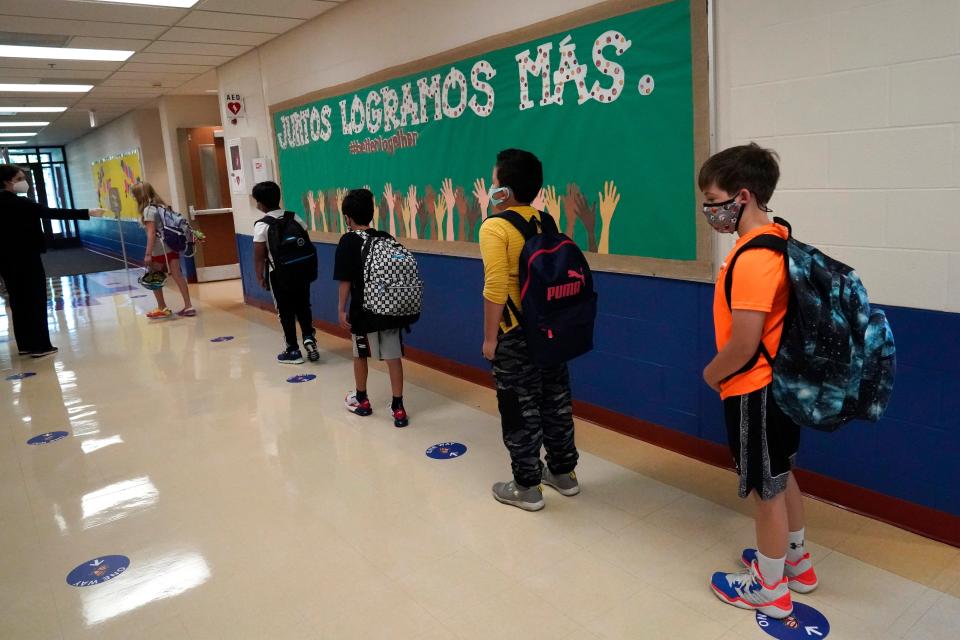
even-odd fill
[{"label": "yellow shirt on the boy wearing the Puma backpack", "polygon": [[[530,220],[540,218],[533,207],[511,209]],[[494,304],[506,304],[509,296],[520,307],[520,252],[523,250],[523,235],[516,227],[502,218],[487,220],[480,227],[480,255],[483,256],[483,297]],[[500,329],[506,333],[517,326],[501,320]]]}]

